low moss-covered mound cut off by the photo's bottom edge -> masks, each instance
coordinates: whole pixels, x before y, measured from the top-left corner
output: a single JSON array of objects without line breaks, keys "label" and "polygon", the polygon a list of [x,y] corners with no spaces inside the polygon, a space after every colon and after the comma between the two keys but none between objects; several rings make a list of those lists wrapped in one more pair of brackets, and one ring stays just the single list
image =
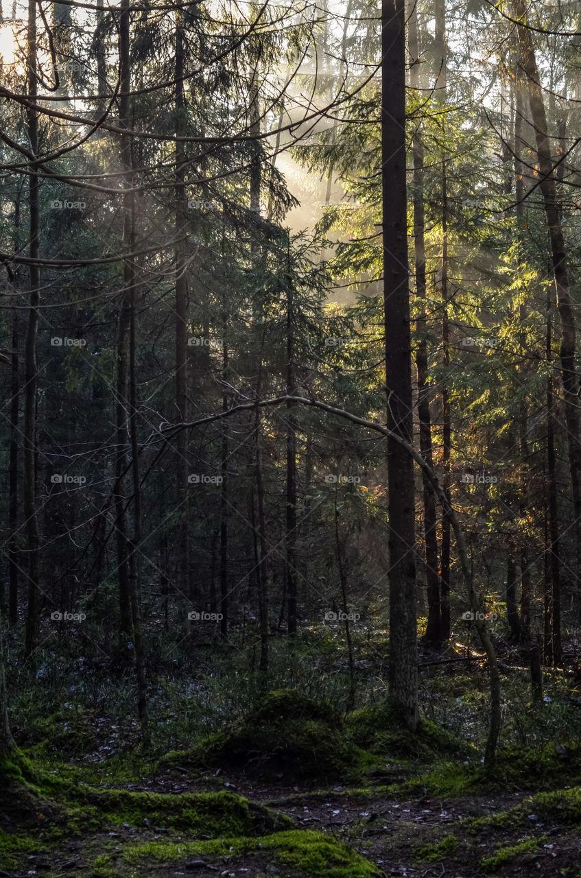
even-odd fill
[{"label": "low moss-covered mound cut off by the photo's bottom edge", "polygon": [[139,874],[157,875],[170,865],[172,872],[188,873],[195,868],[198,874],[206,874],[202,863],[218,869],[217,874],[232,874],[243,863],[247,871],[252,868],[250,874],[279,878],[372,878],[378,874],[373,864],[331,836],[305,830],[276,832],[264,838],[179,844],[153,841],[124,846],[120,853],[99,856],[92,874],[94,878],[118,878],[136,874],[139,868]]}]

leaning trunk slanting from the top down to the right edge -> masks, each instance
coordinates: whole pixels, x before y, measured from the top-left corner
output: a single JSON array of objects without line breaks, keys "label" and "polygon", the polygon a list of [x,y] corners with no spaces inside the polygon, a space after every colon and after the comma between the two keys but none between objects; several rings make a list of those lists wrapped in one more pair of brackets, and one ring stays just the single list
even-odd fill
[{"label": "leaning trunk slanting from the top down to the right edge", "polygon": [[561,375],[563,380],[563,407],[569,446],[571,491],[573,494],[573,533],[577,551],[576,594],[581,582],[581,437],[579,436],[579,381],[575,371],[576,326],[570,295],[567,253],[563,239],[563,227],[556,194],[554,162],[550,153],[547,116],[539,82],[531,32],[527,26],[525,0],[514,0],[515,18],[518,25],[520,65],[527,76],[527,90],[531,109],[536,152],[539,166],[540,188],[547,220],[551,249],[551,261],[556,284],[556,304],[561,320]]}]

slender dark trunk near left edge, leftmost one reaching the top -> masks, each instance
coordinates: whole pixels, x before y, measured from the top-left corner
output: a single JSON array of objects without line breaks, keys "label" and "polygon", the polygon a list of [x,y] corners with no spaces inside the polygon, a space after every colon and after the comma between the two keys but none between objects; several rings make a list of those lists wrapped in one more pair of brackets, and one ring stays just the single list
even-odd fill
[{"label": "slender dark trunk near left edge, leftmost one reaching the top", "polygon": [[[32,108],[36,104],[36,0],[28,0],[27,62],[28,95],[30,106],[26,110],[26,128],[29,148],[32,155],[39,149],[39,119]],[[30,212],[30,258],[39,258],[39,176],[35,165],[28,177],[28,205]],[[36,336],[39,327],[39,266],[30,266],[30,310],[25,341],[25,429],[24,449],[24,510],[26,522],[26,542],[28,552],[28,614],[26,616],[25,650],[35,649],[39,638],[39,521],[36,509],[36,392],[38,374],[36,365]]]}]

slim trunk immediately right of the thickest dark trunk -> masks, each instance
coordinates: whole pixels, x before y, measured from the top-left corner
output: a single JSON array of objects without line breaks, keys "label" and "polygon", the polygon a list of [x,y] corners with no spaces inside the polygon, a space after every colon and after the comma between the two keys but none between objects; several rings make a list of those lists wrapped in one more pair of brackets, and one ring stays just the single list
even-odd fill
[{"label": "slim trunk immediately right of the thickest dark trunk", "polygon": [[[420,45],[418,12],[415,2],[408,9],[408,47],[411,56],[410,83],[420,88]],[[433,465],[432,424],[430,416],[430,388],[427,383],[427,314],[426,314],[426,241],[424,210],[424,147],[418,122],[412,139],[413,157],[413,251],[415,257],[416,295],[421,300],[421,311],[416,320],[418,352],[418,420],[420,421],[420,454]],[[424,500],[424,540],[426,543],[427,627],[425,639],[430,645],[441,644],[440,574],[438,572],[438,541],[436,536],[436,503],[427,474],[422,471]]]}]

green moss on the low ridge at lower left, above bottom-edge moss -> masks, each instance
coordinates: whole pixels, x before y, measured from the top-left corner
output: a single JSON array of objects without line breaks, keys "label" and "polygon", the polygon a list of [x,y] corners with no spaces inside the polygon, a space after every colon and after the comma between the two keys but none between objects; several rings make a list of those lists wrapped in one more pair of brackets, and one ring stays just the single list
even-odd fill
[{"label": "green moss on the low ridge at lower left, above bottom-edge moss", "polygon": [[94,795],[90,794],[91,801],[109,823],[135,828],[143,827],[147,818],[151,824],[188,831],[193,836],[254,836],[292,825],[290,817],[233,793],[165,795],[107,790],[93,800]]}]

